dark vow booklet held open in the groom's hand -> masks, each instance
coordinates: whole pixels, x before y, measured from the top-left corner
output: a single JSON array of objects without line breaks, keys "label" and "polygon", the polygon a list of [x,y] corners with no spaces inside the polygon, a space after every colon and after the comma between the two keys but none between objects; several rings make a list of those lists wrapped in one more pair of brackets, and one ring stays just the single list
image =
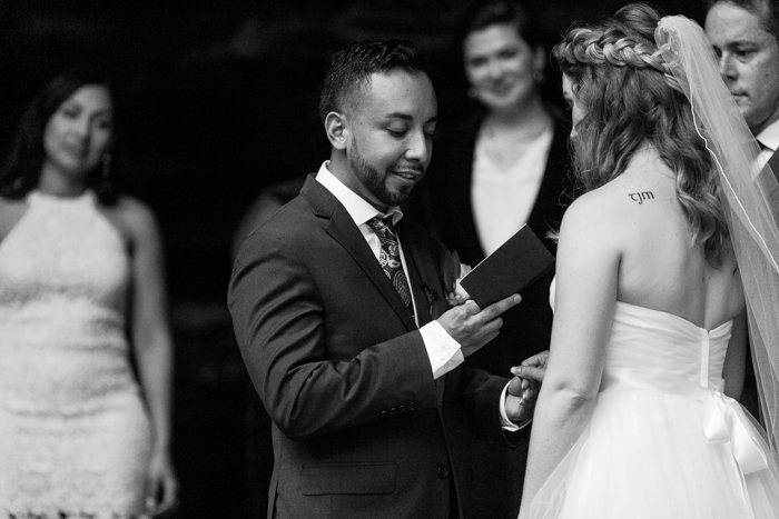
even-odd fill
[{"label": "dark vow booklet held open in the groom's hand", "polygon": [[512,293],[521,293],[553,267],[554,256],[524,224],[474,267],[460,285],[480,308],[484,308]]}]

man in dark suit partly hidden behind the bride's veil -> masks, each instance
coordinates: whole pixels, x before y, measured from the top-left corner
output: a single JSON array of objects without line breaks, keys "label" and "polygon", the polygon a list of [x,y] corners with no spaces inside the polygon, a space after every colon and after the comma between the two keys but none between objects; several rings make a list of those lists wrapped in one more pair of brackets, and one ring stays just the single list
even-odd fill
[{"label": "man in dark suit partly hidden behind the bride's veil", "polygon": [[[706,36],[720,73],[760,143],[759,160],[779,174],[779,0],[704,0]],[[763,170],[768,173],[771,170]],[[779,177],[778,177],[779,179]],[[769,193],[779,211],[779,191]],[[759,417],[755,368],[747,368],[739,399]]]}]

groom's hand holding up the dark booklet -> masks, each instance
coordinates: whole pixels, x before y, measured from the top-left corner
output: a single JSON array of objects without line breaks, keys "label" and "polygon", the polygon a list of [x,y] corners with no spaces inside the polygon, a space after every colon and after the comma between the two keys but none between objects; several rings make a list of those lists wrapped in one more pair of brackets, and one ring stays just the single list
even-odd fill
[{"label": "groom's hand holding up the dark booklet", "polygon": [[482,310],[473,300],[467,300],[447,310],[437,321],[454,340],[460,342],[463,356],[469,357],[497,337],[503,326],[501,313],[520,301],[522,298],[515,293]]}]

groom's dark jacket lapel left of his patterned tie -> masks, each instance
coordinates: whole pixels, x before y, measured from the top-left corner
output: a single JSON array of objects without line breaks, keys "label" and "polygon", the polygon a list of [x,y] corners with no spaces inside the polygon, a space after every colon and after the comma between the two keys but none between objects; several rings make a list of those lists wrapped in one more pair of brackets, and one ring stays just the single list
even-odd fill
[{"label": "groom's dark jacket lapel left of his patterned tie", "polygon": [[352,256],[376,289],[389,302],[406,328],[408,330],[416,329],[416,323],[411,313],[408,313],[401,296],[387,279],[378,261],[376,261],[371,247],[366,243],[363,233],[355,226],[346,208],[314,177],[314,174],[308,177],[300,190],[300,194],[308,201],[316,216],[328,220],[324,228],[325,232]]}]

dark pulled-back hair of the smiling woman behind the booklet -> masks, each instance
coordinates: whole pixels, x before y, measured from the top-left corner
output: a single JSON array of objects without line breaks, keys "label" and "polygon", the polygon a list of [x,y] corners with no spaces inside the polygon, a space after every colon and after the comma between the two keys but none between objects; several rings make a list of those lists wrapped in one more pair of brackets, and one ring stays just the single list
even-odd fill
[{"label": "dark pulled-back hair of the smiling woman behind the booklet", "polygon": [[510,0],[474,2],[463,18],[457,41],[462,44],[469,34],[499,23],[515,26],[520,38],[527,42],[532,49],[545,47],[541,24],[535,19],[531,6]]}]

